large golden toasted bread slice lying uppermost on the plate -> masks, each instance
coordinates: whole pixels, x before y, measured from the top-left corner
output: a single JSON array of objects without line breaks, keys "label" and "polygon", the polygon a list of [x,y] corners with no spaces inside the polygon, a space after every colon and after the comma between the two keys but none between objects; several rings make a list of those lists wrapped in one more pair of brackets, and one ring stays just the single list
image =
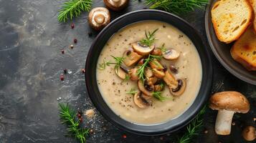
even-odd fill
[{"label": "large golden toasted bread slice lying uppermost on the plate", "polygon": [[219,0],[212,7],[212,23],[219,41],[239,39],[252,23],[253,9],[247,0]]}]

